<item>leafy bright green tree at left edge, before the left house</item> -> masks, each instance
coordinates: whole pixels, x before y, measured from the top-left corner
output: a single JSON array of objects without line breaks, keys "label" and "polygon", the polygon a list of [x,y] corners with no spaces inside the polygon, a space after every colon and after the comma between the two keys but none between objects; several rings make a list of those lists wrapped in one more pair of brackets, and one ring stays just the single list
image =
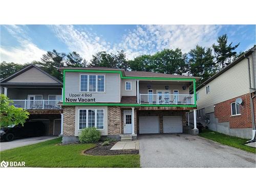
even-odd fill
[{"label": "leafy bright green tree at left edge, before the left house", "polygon": [[29,118],[29,112],[10,105],[10,102],[12,103],[4,94],[0,95],[0,127],[7,127],[11,124],[17,125],[19,123],[23,125],[26,119]]}]

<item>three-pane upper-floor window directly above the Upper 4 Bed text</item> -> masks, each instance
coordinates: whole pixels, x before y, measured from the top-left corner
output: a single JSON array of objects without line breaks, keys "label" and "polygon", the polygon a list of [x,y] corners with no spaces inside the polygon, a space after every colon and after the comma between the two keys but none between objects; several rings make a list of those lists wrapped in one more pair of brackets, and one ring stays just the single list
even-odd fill
[{"label": "three-pane upper-floor window directly above the Upper 4 Bed text", "polygon": [[81,92],[104,92],[104,75],[80,75]]}]

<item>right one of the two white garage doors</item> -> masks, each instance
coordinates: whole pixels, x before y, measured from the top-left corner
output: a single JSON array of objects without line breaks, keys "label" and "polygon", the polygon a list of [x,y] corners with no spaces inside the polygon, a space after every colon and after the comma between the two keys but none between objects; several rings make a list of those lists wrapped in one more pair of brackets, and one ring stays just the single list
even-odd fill
[{"label": "right one of the two white garage doors", "polygon": [[182,117],[163,116],[163,133],[182,133]]}]

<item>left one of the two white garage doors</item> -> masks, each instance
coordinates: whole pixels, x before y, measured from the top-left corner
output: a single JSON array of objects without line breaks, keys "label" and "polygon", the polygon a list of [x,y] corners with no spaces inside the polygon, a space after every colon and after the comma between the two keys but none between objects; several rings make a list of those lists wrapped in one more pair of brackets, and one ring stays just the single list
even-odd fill
[{"label": "left one of the two white garage doors", "polygon": [[159,133],[159,118],[158,116],[140,117],[139,133]]}]

